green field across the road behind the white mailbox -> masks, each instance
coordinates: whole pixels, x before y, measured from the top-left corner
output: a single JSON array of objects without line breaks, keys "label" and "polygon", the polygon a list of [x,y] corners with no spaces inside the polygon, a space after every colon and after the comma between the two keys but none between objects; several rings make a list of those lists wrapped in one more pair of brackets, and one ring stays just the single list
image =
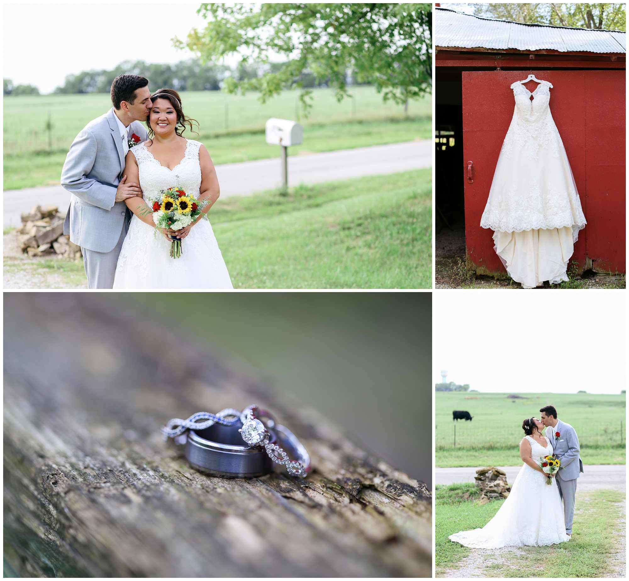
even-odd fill
[{"label": "green field across the road behind the white mailbox", "polygon": [[[353,99],[338,103],[331,89],[316,89],[308,119],[299,116],[294,91],[284,91],[264,105],[257,94],[225,95],[220,91],[182,94],[186,114],[199,122],[199,135],[214,163],[279,157],[279,147],[264,140],[270,117],[299,120],[304,143],[289,155],[382,145],[431,136],[431,97],[403,106],[383,103],[372,87],[354,87]],[[72,140],[92,119],[111,108],[108,94],[5,96],[3,189],[58,184]],[[46,125],[52,122],[50,143]],[[227,111],[227,119],[225,115]]]}]

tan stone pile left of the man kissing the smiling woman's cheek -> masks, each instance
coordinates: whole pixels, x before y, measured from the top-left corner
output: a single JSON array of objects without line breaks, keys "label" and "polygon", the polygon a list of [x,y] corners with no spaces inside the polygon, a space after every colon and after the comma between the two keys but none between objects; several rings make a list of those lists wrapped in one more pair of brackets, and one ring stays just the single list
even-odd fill
[{"label": "tan stone pile left of the man kissing the smiling woman's cheek", "polygon": [[18,242],[22,252],[29,256],[45,254],[64,255],[72,260],[81,257],[81,247],[64,236],[65,214],[58,206],[34,206],[21,214]]}]

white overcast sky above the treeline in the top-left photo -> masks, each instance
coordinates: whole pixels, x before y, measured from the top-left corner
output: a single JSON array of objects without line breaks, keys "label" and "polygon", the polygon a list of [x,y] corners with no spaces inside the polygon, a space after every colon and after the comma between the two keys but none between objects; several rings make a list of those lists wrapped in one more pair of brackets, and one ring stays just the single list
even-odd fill
[{"label": "white overcast sky above the treeline in the top-left photo", "polygon": [[190,58],[189,50],[176,50],[170,39],[184,40],[192,28],[203,28],[206,21],[196,14],[200,4],[3,4],[3,77],[48,93],[64,84],[65,75],[82,70],[113,69],[123,60]]}]

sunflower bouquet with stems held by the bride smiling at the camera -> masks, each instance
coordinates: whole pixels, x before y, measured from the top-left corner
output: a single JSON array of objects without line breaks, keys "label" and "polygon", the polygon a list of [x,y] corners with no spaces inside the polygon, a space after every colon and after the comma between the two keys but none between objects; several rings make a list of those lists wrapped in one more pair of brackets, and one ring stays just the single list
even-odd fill
[{"label": "sunflower bouquet with stems held by the bride smiling at the camera", "polygon": [[[149,197],[147,202],[153,208],[153,222],[157,228],[181,230],[192,224],[203,212],[201,209],[208,203],[198,200],[192,194],[186,194],[181,187],[169,187],[157,196]],[[208,219],[206,214],[203,218]],[[170,257],[179,258],[182,254],[181,240],[170,236]]]}]

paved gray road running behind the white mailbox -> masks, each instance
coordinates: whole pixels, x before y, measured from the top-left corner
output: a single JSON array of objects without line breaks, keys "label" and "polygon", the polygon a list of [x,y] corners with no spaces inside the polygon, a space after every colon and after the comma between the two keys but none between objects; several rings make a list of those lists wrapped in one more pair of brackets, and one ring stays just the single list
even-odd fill
[{"label": "paved gray road running behind the white mailbox", "polygon": [[[431,140],[372,145],[288,159],[289,185],[317,184],[364,175],[386,175],[431,167]],[[253,162],[225,163],[216,166],[221,196],[249,196],[281,185],[280,158]],[[31,187],[4,192],[4,226],[17,226],[19,214],[36,204],[59,206],[65,212],[70,194],[60,185]]]}]

